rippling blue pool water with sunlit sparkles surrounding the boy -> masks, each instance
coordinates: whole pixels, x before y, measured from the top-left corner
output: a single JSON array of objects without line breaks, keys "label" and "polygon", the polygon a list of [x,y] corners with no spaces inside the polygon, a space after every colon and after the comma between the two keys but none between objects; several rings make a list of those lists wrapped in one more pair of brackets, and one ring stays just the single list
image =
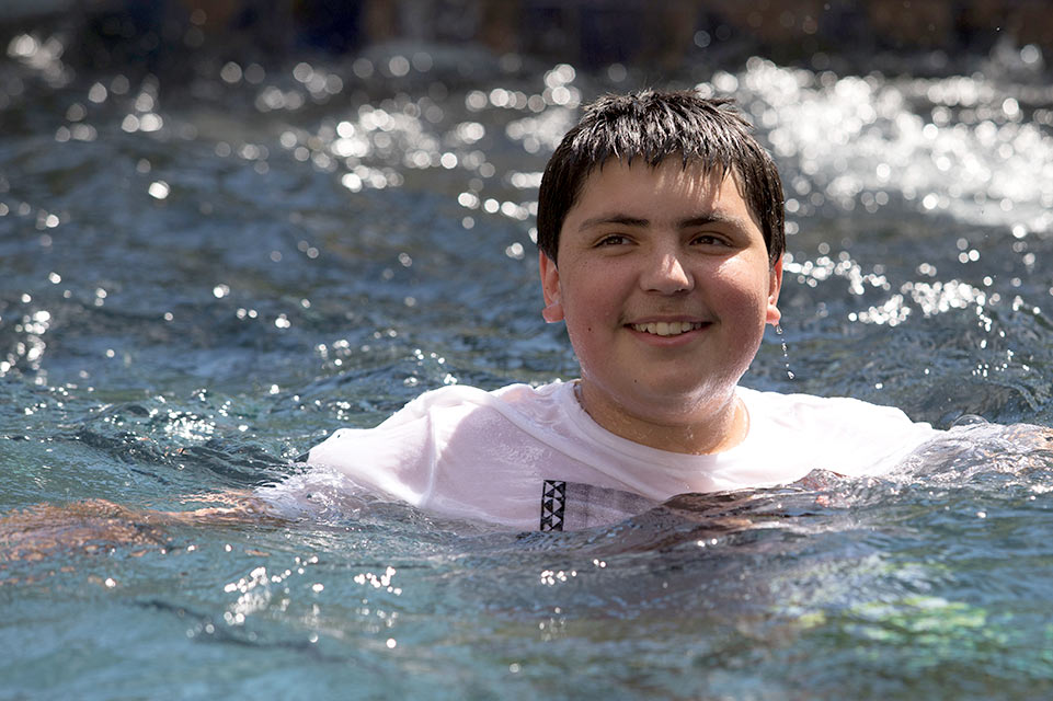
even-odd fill
[{"label": "rippling blue pool water with sunlit sparkles surrounding the boy", "polygon": [[[982,424],[886,479],[573,533],[98,502],[207,505],[423,390],[574,377],[539,171],[646,73],[389,46],[158,79],[60,49],[0,64],[0,698],[1053,693],[1053,453]],[[745,384],[1053,423],[1040,51],[671,83],[736,95],[783,173],[782,335]]]}]

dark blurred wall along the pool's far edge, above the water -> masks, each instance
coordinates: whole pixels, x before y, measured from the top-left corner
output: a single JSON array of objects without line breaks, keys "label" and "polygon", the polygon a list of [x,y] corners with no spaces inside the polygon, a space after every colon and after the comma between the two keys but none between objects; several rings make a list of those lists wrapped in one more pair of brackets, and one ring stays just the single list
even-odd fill
[{"label": "dark blurred wall along the pool's far edge, above the water", "polygon": [[[875,53],[985,54],[998,42],[1053,49],[1045,0],[5,0],[0,31],[61,28],[68,59],[175,70],[205,46],[238,59],[359,51],[386,42],[473,43],[583,68],[699,55],[776,62]],[[9,37],[10,38],[10,37]],[[823,66],[817,66],[823,68]],[[916,67],[916,64],[915,64]]]}]

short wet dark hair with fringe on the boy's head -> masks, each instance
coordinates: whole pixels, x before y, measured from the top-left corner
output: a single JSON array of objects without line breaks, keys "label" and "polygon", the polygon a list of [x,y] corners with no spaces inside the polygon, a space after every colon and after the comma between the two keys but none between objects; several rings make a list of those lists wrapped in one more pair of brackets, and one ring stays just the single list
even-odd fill
[{"label": "short wet dark hair with fringe on the boy's head", "polygon": [[545,168],[538,193],[538,248],[556,261],[566,212],[588,175],[608,159],[630,164],[642,158],[656,166],[678,156],[685,168],[701,164],[707,173],[737,175],[774,264],[786,249],[782,183],[771,157],[749,131],[732,100],[707,100],[694,91],[644,90],[596,100]]}]

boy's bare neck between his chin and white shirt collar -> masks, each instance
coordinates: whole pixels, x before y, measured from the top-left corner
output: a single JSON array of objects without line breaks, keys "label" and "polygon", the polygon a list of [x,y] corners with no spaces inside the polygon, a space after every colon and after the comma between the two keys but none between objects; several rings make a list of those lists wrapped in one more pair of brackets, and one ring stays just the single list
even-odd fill
[{"label": "boy's bare neck between his chin and white shirt collar", "polygon": [[723,452],[741,444],[749,432],[749,414],[734,392],[723,402],[696,409],[685,420],[641,416],[606,401],[585,382],[577,384],[575,393],[585,413],[610,433],[669,452]]}]

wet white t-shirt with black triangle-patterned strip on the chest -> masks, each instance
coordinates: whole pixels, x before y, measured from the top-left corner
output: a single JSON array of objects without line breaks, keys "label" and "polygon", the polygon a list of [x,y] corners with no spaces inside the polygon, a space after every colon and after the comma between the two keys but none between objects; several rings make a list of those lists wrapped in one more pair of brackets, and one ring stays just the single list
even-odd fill
[{"label": "wet white t-shirt with black triangle-patterned strip on the chest", "polygon": [[298,510],[325,492],[365,489],[440,516],[570,530],[677,494],[785,484],[815,469],[881,474],[941,433],[859,400],[736,391],[749,414],[745,440],[696,456],[608,432],[579,404],[573,382],[447,387],[376,428],[336,430],[311,449],[311,470],[261,496]]}]

